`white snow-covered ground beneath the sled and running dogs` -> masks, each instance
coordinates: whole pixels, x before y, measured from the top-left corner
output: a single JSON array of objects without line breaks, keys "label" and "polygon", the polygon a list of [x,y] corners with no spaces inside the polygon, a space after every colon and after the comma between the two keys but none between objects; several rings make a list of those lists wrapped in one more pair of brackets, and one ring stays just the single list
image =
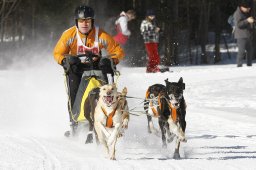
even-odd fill
[{"label": "white snow-covered ground beneath the sled and running dogs", "polygon": [[[138,98],[149,85],[183,77],[188,142],[181,143],[181,159],[174,160],[174,143],[163,149],[161,138],[148,134],[146,116],[131,116],[118,141],[116,161],[106,159],[101,146],[84,144],[87,124],[78,137],[64,137],[69,121],[62,68],[52,58],[24,66],[0,71],[1,170],[256,169],[254,65],[180,66],[156,74],[119,66],[119,90],[126,86],[128,95]],[[128,99],[130,108],[138,110],[143,109],[141,102]],[[154,124],[158,127],[155,119]]]}]

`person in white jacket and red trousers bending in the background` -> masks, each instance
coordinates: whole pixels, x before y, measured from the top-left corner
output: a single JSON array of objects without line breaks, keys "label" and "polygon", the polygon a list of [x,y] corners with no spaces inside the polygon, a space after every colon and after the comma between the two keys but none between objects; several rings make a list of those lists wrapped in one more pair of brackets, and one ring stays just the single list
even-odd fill
[{"label": "person in white jacket and red trousers bending in the background", "polygon": [[122,11],[119,18],[115,22],[117,34],[114,36],[114,40],[121,45],[125,45],[131,31],[128,29],[128,22],[136,18],[134,10]]}]

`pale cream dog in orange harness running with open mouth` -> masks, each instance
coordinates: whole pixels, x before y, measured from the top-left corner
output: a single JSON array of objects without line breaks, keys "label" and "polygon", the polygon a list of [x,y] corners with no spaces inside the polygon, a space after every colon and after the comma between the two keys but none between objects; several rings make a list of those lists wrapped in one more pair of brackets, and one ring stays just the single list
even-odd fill
[{"label": "pale cream dog in orange harness running with open mouth", "polygon": [[115,84],[100,87],[99,100],[94,113],[94,128],[110,159],[115,160],[117,138],[128,127],[129,112],[126,101],[127,89],[117,92]]}]

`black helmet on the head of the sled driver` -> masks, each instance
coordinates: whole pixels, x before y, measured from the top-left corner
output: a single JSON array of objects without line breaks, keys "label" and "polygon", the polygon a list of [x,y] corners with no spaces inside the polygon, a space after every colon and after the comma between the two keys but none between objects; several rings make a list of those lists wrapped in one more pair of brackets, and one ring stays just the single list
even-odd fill
[{"label": "black helmet on the head of the sled driver", "polygon": [[77,19],[94,19],[94,10],[86,5],[80,5],[75,10],[75,20]]}]

